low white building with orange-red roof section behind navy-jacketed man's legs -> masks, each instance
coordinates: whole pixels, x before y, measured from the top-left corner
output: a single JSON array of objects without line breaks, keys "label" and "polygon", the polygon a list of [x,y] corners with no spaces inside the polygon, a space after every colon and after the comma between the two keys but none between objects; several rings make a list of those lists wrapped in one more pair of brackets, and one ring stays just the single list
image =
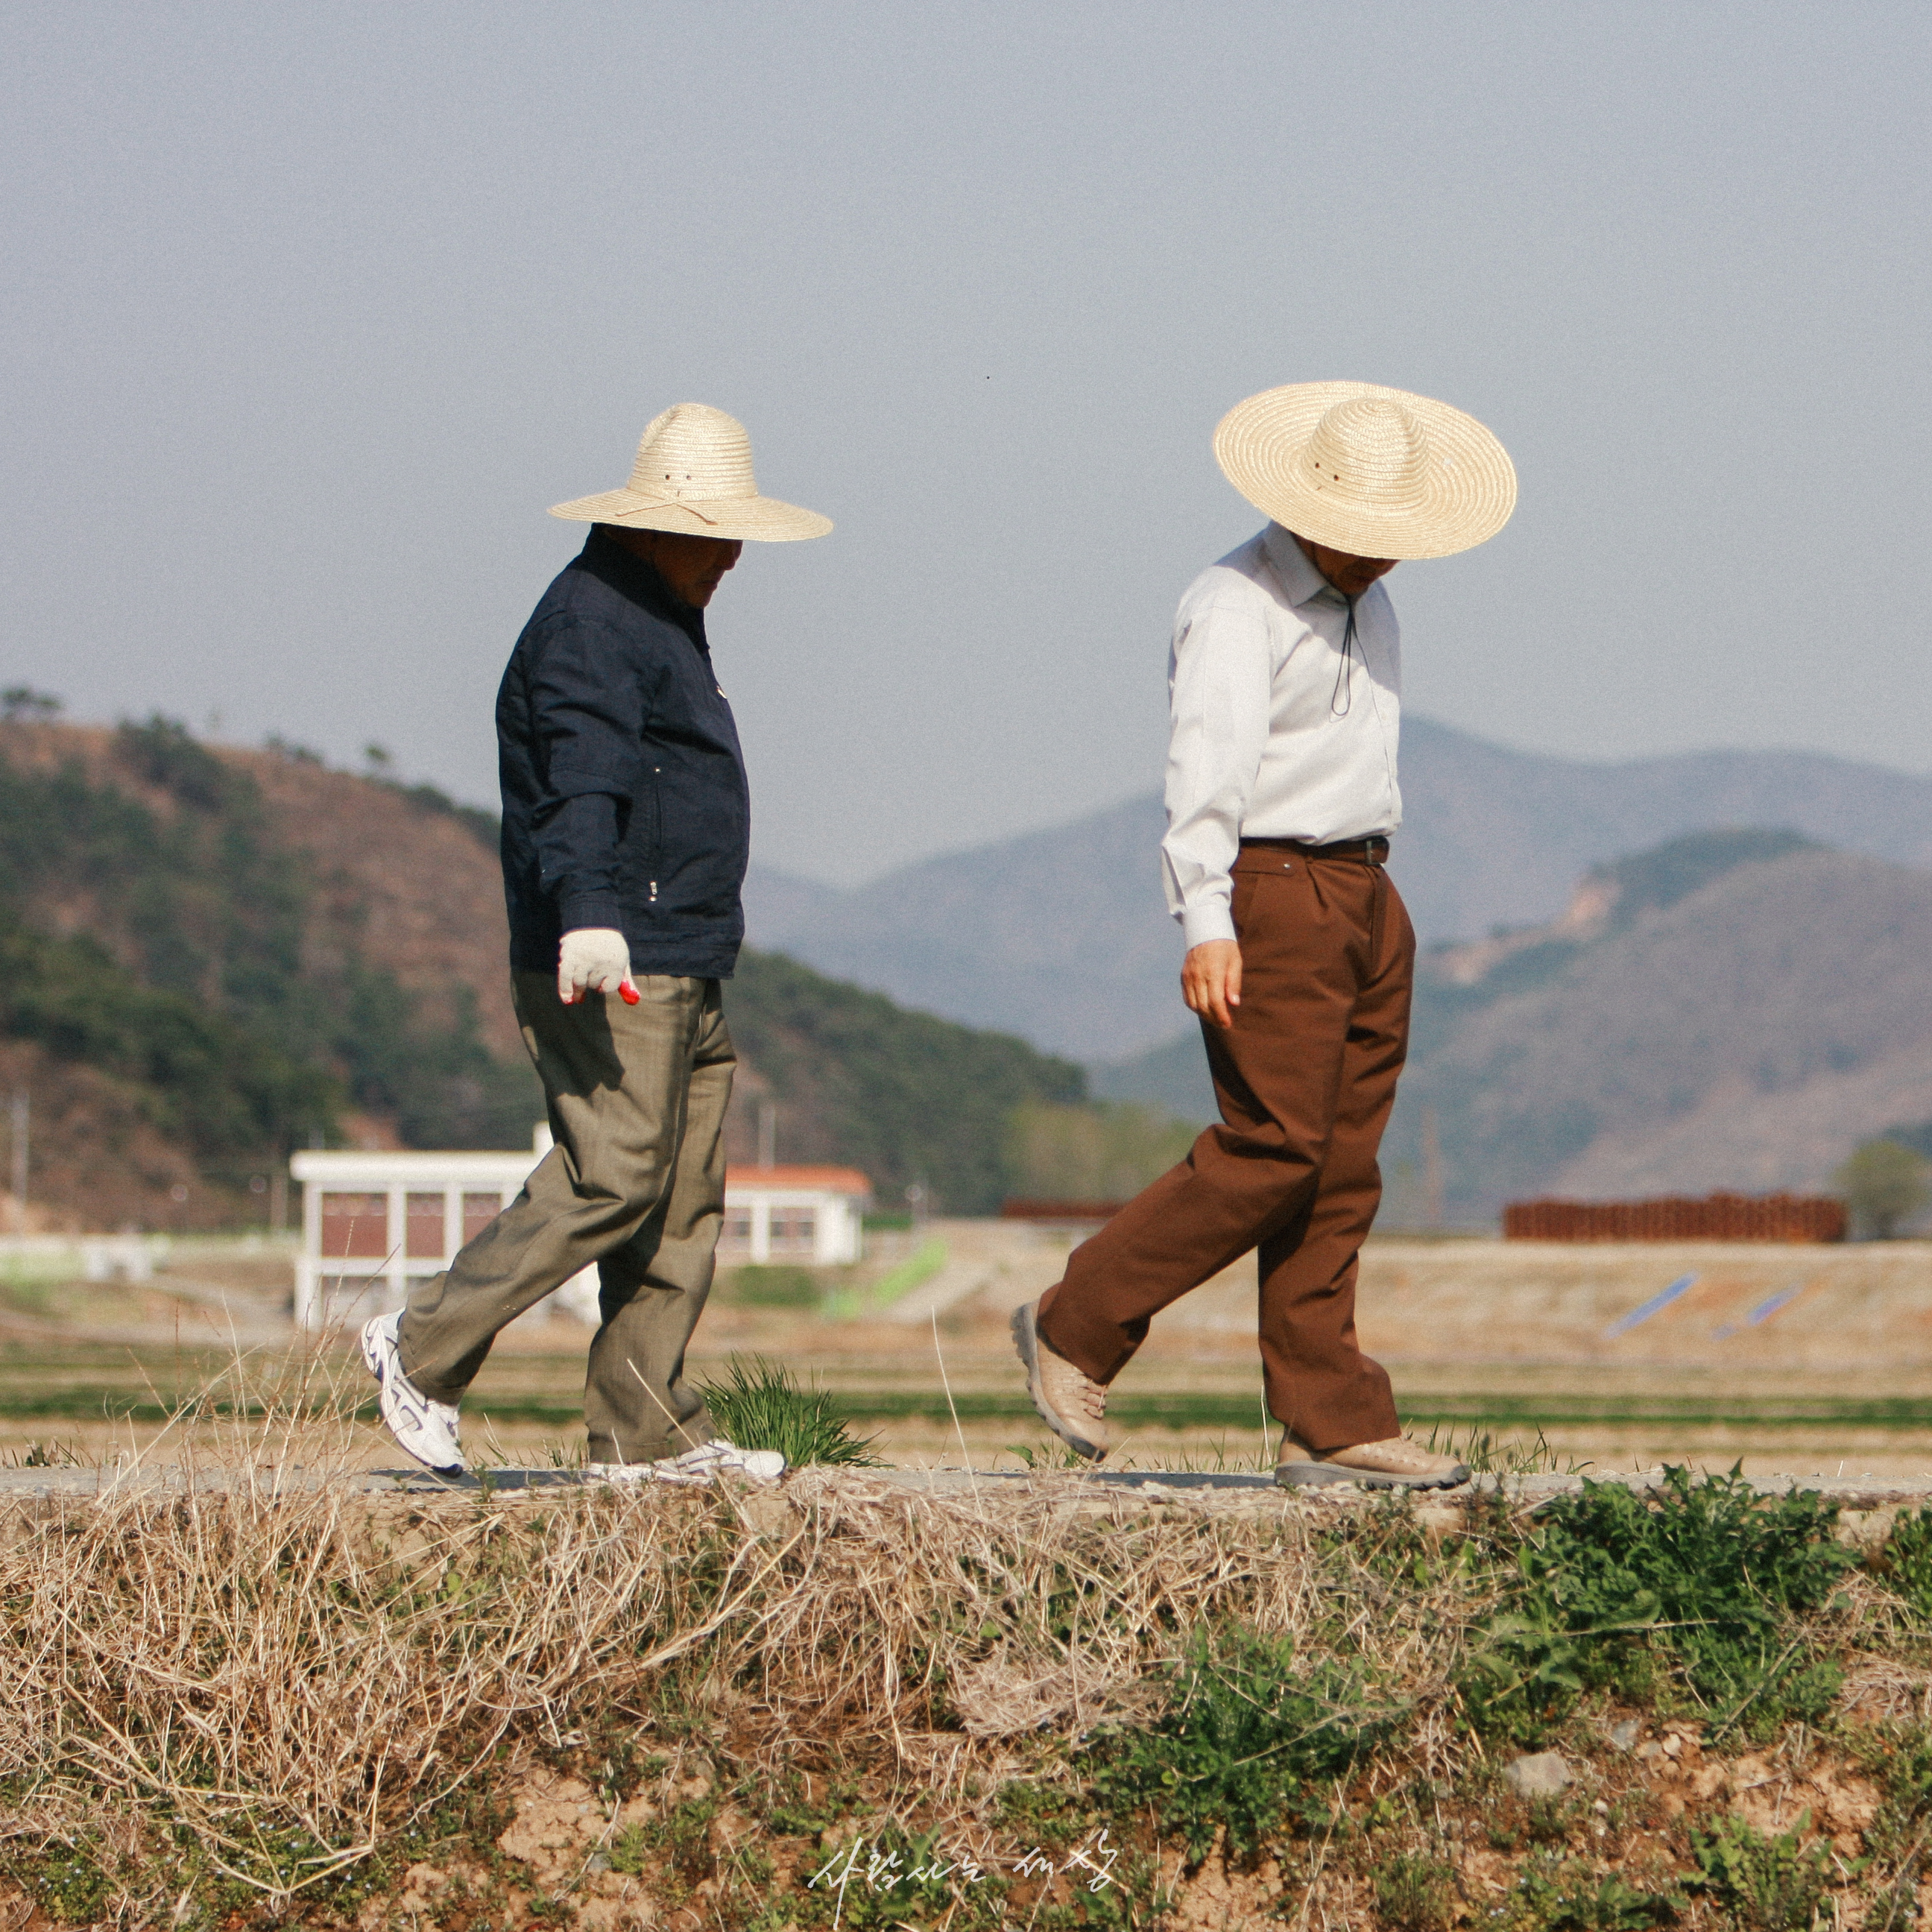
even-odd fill
[{"label": "low white building with orange-red roof section behind navy-jacketed man's legs", "polygon": [[[516,1200],[551,1151],[539,1126],[527,1150],[421,1153],[303,1151],[288,1171],[301,1182],[296,1325],[327,1327],[400,1308],[412,1281],[456,1260]],[[835,1267],[864,1252],[871,1182],[850,1167],[734,1167],[724,1180],[719,1260]],[[554,1302],[597,1323],[597,1269],[572,1275]]]}]

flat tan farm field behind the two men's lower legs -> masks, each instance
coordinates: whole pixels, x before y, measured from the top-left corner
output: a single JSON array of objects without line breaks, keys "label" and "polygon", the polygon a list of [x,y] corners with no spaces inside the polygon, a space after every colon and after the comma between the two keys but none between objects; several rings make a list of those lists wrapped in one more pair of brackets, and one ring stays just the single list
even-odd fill
[{"label": "flat tan farm field behind the two men's lower legs", "polygon": [[[945,1412],[945,1393],[983,1408],[1016,1406],[1022,1389],[1007,1318],[1065,1264],[1070,1231],[999,1221],[941,1221],[920,1244],[945,1264],[883,1310],[869,1283],[906,1260],[906,1236],[881,1242],[844,1277],[848,1306],[752,1308],[721,1289],[697,1331],[694,1374],[732,1354],[790,1364],[864,1406],[918,1399],[923,1414],[862,1422],[895,1463],[1010,1466],[1045,1447],[1024,1412]],[[1629,1318],[1671,1285],[1689,1285],[1646,1320]],[[313,1352],[288,1327],[288,1256],[272,1244],[180,1244],[143,1285],[14,1281],[0,1287],[0,1459],[60,1443],[87,1457],[156,1434],[158,1412],[218,1374],[236,1352],[251,1376],[309,1354],[359,1393],[344,1337]],[[1254,1466],[1264,1447],[1254,1350],[1254,1262],[1238,1264],[1165,1312],[1122,1374],[1122,1403],[1217,1399],[1213,1422],[1138,1426],[1121,1455],[1140,1464]],[[1756,1320],[1752,1320],[1756,1316]],[[1613,1333],[1615,1327],[1621,1333]],[[1567,1246],[1501,1240],[1378,1238],[1362,1256],[1364,1347],[1395,1378],[1405,1410],[1451,1410],[1455,1428],[1488,1426],[1534,1441],[1561,1463],[1636,1468],[1660,1461],[1750,1474],[1932,1474],[1932,1242],[1835,1248],[1735,1244]],[[466,1439],[508,1463],[570,1459],[582,1441],[585,1329],[537,1310],[506,1331],[466,1403]],[[153,1422],[110,1422],[141,1401]],[[1911,1414],[1872,1418],[1884,1401]],[[1252,1405],[1252,1408],[1250,1408]],[[1859,1406],[1857,1416],[1837,1414]],[[1588,1414],[1563,1420],[1567,1410]],[[1536,1424],[1513,1420],[1542,1410]],[[1804,1410],[1812,1410],[1806,1414]],[[1231,1420],[1252,1412],[1252,1422]],[[1551,1420],[1557,1414],[1557,1420]],[[1449,1424],[1437,1420],[1435,1428]],[[1428,1434],[1428,1424],[1418,1424]],[[155,1451],[182,1453],[180,1426]],[[369,1461],[394,1449],[371,1428]]]}]

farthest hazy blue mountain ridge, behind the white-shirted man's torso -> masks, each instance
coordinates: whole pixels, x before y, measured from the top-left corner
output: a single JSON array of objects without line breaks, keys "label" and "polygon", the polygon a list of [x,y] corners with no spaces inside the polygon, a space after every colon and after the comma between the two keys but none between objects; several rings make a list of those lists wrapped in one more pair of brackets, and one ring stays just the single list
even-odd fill
[{"label": "farthest hazy blue mountain ridge, behind the white-shirted man's torso", "polygon": [[[1714,827],[1789,827],[1932,864],[1932,779],[1808,752],[1592,765],[1412,717],[1403,796],[1393,873],[1424,943],[1551,920],[1586,867]],[[1161,902],[1161,831],[1148,794],[856,891],[753,881],[752,937],[912,1007],[1115,1063],[1190,1026]]]}]

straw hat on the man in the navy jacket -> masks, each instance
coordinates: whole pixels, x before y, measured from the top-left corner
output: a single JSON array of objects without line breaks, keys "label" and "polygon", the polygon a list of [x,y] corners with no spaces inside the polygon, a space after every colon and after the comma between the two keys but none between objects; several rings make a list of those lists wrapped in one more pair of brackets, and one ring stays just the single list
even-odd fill
[{"label": "straw hat on the man in the navy jacket", "polygon": [[833,527],[817,510],[759,497],[744,423],[701,402],[674,402],[653,417],[624,489],[551,504],[551,516],[753,543],[796,543]]}]

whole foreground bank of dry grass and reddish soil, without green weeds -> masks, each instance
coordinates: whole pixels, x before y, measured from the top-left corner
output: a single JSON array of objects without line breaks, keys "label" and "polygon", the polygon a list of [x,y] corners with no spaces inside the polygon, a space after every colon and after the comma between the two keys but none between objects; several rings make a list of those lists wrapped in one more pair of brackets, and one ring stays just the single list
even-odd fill
[{"label": "whole foreground bank of dry grass and reddish soil, without green weeds", "polygon": [[[943,1843],[1010,1874],[1028,1843],[1086,1830],[1095,1748],[1146,1731],[1169,1667],[1227,1629],[1293,1638],[1310,1685],[1347,1667],[1399,1712],[1323,1799],[1327,1824],[1240,1868],[1186,1861],[1144,1814],[1111,1903],[1065,1872],[1009,1876],[1005,1905],[954,1889],[960,1932],[1003,1913],[1393,1924],[1374,1903],[1391,1857],[1410,1876],[1437,1861],[1474,1901],[1463,1917],[1567,1924],[1524,1917],[1524,1859],[1565,1843],[1662,1870],[1673,1791],[1679,1810],[1733,1787],[1764,1806],[1776,1774],[1847,1872],[1870,1816],[1845,1806],[1874,1814],[1841,1743],[1799,1727],[1745,1777],[1716,1735],[1700,1756],[1683,1710],[1638,1714],[1660,1739],[1648,1770],[1613,1760],[1611,1712],[1563,1735],[1613,1837],[1580,1797],[1557,1816],[1501,1793],[1455,1689],[1513,1575],[1501,1515],[1437,1542],[1397,1503],[1204,1511],[1078,1478],[914,1499],[817,1470],[782,1493],[381,1497],[327,1480],[359,1459],[348,1424],[288,1416],[230,1430],[220,1463],[257,1472],[242,1488],[197,1493],[189,1466],[168,1495],[0,1513],[0,1868],[48,1913],[375,1932],[686,1907],[692,1926],[825,1926],[806,1878],[838,1845]],[[180,1455],[170,1441],[147,1453]],[[1866,1578],[1833,1611],[1830,1642],[1864,1658],[1864,1719],[1922,1704],[1897,1619]],[[862,1903],[842,1907],[860,1932],[947,1917],[943,1899]]]}]

